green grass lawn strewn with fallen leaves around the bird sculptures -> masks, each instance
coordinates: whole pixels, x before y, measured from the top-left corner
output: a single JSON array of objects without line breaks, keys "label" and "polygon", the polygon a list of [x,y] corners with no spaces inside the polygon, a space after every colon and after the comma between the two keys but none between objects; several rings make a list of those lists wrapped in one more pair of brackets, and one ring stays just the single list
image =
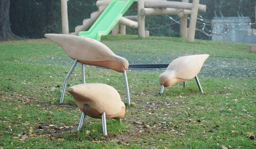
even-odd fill
[{"label": "green grass lawn strewn with fallen leaves around the bird sculptures", "polygon": [[[104,37],[102,43],[132,63],[170,63],[180,56],[210,54],[194,79],[165,88],[164,70],[128,70],[131,102],[123,123],[86,117],[76,131],[81,111],[72,96],[59,104],[62,84],[73,60],[48,39],[0,42],[0,149],[252,149],[256,140],[256,53],[249,44],[171,37]],[[80,84],[78,65],[68,86]],[[105,83],[126,102],[122,73],[86,66],[87,83]],[[67,91],[66,91],[67,92]]]}]

